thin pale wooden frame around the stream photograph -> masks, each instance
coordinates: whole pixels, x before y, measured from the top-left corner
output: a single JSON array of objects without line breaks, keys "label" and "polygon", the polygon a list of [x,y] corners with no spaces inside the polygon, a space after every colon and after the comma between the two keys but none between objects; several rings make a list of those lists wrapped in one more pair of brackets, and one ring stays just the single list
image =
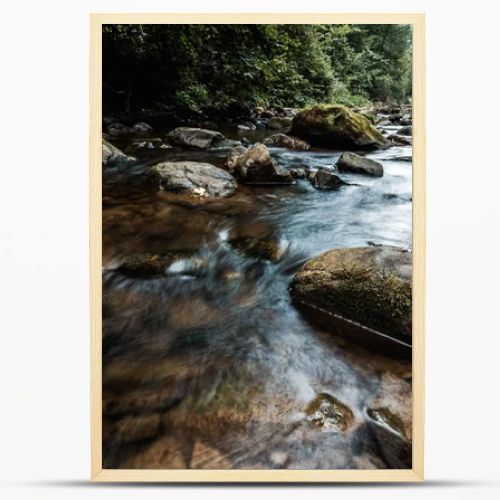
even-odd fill
[{"label": "thin pale wooden frame around the stream photograph", "polygon": [[[124,470],[102,466],[103,24],[411,24],[413,26],[413,468],[408,470]],[[90,362],[91,478],[166,482],[409,482],[424,478],[425,319],[424,14],[91,14],[90,15]]]}]

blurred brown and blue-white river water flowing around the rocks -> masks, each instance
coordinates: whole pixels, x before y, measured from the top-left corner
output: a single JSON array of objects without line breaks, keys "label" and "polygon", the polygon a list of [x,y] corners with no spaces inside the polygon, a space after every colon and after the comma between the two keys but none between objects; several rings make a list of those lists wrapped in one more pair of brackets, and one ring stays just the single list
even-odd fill
[{"label": "blurred brown and blue-white river water flowing around the rocks", "polygon": [[[288,168],[333,168],[341,154],[271,152]],[[411,248],[412,164],[401,159],[411,148],[369,154],[384,176],[339,174],[350,185],[336,191],[299,179],[199,201],[156,191],[147,169],[166,160],[222,166],[226,151],[133,154],[137,165],[103,176],[104,467],[386,467],[366,402],[383,373],[408,379],[410,365],[311,326],[288,287],[300,264],[329,249]],[[179,257],[161,276],[120,272],[131,256],[168,252]],[[351,409],[348,432],[311,423],[306,408],[322,393]],[[145,415],[153,430],[142,439],[119,427]]]}]

